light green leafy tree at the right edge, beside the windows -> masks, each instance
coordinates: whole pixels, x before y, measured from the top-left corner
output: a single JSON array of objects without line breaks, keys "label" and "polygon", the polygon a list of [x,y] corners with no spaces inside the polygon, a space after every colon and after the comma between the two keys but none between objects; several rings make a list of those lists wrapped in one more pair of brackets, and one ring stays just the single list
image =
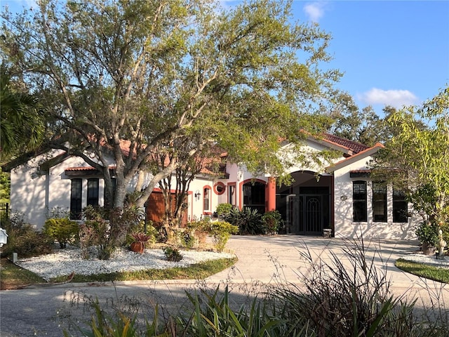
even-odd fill
[{"label": "light green leafy tree at the right edge, beside the windows", "polygon": [[424,220],[447,222],[449,87],[420,107],[395,111],[388,122],[395,135],[377,158],[377,169],[388,171],[394,184],[408,190],[415,211],[421,211]]}]

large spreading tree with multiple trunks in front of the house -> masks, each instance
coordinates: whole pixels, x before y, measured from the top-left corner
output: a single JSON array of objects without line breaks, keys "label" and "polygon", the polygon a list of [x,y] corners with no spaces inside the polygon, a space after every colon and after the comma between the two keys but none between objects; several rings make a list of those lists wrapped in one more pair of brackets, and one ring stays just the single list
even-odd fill
[{"label": "large spreading tree with multiple trunks in front of the house", "polygon": [[[139,171],[161,178],[151,158],[192,155],[213,143],[254,172],[281,176],[279,140],[320,131],[335,100],[337,70],[321,70],[330,36],[291,22],[290,1],[245,1],[222,11],[208,0],[39,1],[2,13],[5,62],[39,93],[57,122],[53,142],[102,172],[114,206]],[[192,141],[194,139],[194,141]],[[67,146],[69,144],[69,146]],[[95,152],[92,159],[84,150]]]}]

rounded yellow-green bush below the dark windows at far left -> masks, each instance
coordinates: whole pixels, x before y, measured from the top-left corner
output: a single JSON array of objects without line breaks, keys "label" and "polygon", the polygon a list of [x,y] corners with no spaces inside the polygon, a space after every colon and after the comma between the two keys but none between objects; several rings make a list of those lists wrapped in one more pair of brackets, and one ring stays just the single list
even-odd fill
[{"label": "rounded yellow-green bush below the dark windows at far left", "polygon": [[43,233],[58,241],[60,248],[66,248],[67,244],[78,241],[79,225],[69,218],[50,218],[43,225]]}]

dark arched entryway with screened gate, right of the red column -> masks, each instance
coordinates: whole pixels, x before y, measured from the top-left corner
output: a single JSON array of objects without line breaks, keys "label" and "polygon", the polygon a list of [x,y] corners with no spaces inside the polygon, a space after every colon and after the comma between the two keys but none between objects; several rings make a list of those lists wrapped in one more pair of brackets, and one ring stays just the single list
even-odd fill
[{"label": "dark arched entryway with screened gate, right of the red column", "polygon": [[294,183],[276,188],[276,209],[288,234],[321,235],[332,228],[332,176],[317,177],[313,172],[292,173]]}]

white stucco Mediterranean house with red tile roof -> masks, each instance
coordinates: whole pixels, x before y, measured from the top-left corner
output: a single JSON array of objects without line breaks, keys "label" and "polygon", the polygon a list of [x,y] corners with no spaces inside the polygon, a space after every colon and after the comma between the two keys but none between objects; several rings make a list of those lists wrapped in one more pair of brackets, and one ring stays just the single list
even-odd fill
[{"label": "white stucco Mediterranean house with red tile roof", "polygon": [[[304,151],[334,150],[338,157],[322,173],[313,164],[292,166],[293,184],[253,176],[245,166],[228,162],[221,176],[201,173],[189,186],[187,220],[211,216],[218,204],[229,203],[260,213],[278,210],[286,234],[335,237],[415,239],[416,219],[400,190],[370,179],[368,161],[383,146],[368,147],[330,134],[304,140]],[[288,153],[289,145],[283,145]],[[110,163],[113,167],[114,162]],[[220,178],[218,178],[220,177]],[[83,159],[51,150],[11,169],[11,211],[25,214],[37,228],[54,209],[76,214],[87,205],[107,203],[104,181]],[[132,187],[132,186],[130,186]],[[150,220],[163,212],[161,191],[146,203]]]}]

